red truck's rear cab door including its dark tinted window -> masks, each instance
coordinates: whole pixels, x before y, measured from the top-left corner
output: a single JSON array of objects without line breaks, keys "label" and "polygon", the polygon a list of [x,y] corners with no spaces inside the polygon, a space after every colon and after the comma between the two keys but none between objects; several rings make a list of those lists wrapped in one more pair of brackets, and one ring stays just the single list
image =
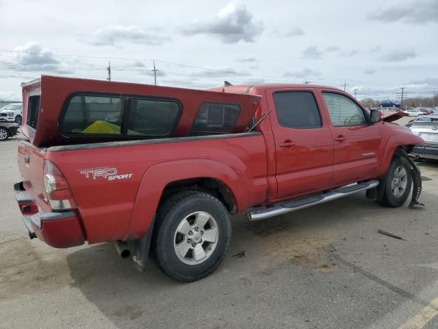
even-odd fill
[{"label": "red truck's rear cab door including its dark tinted window", "polygon": [[276,151],[278,198],[331,186],[333,138],[314,88],[266,91]]}]

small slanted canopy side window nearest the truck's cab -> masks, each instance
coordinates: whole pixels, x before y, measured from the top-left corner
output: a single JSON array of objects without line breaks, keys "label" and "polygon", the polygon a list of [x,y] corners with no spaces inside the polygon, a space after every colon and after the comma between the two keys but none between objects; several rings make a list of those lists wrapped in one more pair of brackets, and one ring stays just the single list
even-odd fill
[{"label": "small slanted canopy side window nearest the truck's cab", "polygon": [[235,104],[203,103],[199,108],[191,134],[229,134],[240,114]]}]

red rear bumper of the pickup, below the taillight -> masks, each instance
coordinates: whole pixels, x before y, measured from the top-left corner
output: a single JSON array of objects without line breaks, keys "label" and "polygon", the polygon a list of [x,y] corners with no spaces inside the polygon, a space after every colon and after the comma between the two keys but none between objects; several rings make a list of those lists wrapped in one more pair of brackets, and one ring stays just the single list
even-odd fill
[{"label": "red rear bumper of the pickup, below the taillight", "polygon": [[38,209],[23,182],[14,184],[14,193],[23,214],[29,236],[38,237],[55,248],[82,245],[84,240],[79,218],[74,211],[44,212]]}]

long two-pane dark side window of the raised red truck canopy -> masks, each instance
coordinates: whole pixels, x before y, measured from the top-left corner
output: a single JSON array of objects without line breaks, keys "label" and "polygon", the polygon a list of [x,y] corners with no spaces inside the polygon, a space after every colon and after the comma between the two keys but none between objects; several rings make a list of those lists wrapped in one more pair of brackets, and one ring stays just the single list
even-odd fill
[{"label": "long two-pane dark side window of the raised red truck canopy", "polygon": [[168,137],[181,112],[176,100],[112,95],[74,95],[64,108],[62,134],[118,138]]}]

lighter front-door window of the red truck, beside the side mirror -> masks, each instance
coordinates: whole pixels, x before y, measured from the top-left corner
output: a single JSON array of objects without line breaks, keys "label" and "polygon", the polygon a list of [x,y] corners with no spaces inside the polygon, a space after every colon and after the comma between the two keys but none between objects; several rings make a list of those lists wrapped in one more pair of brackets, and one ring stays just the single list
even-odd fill
[{"label": "lighter front-door window of the red truck, beside the side mirror", "polygon": [[322,95],[333,125],[363,125],[366,123],[362,109],[348,97],[335,93],[322,93]]}]

